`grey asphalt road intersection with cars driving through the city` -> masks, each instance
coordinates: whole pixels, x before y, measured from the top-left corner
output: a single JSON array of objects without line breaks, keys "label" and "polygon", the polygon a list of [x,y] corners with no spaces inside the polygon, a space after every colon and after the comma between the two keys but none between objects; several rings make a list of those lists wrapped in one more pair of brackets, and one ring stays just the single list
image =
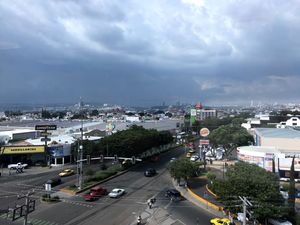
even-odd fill
[{"label": "grey asphalt road intersection with cars driving through the city", "polygon": [[[71,197],[62,195],[62,202],[56,204],[37,201],[36,211],[29,214],[29,220],[34,225],[131,225],[135,224],[137,216],[141,215],[143,224],[161,224],[161,221],[165,221],[166,224],[209,224],[213,215],[187,200],[172,202],[164,196],[165,191],[172,188],[166,165],[172,157],[182,153],[184,149],[170,151],[161,156],[159,162],[143,162],[129,172],[103,183],[103,187],[109,191],[117,187],[126,190],[126,194],[118,199],[104,196],[94,202],[85,202],[82,194]],[[155,168],[158,174],[154,177],[145,177],[143,172],[148,167]],[[1,183],[0,194],[11,194],[16,198],[16,193],[20,190],[38,188],[45,180],[56,174],[57,171],[50,171],[29,177],[22,176],[24,178],[20,176],[20,179],[13,182],[8,181],[4,185]],[[76,176],[63,179],[66,183],[75,180]],[[37,193],[39,194],[36,197],[43,193],[43,190],[38,189]],[[147,200],[154,196],[157,202],[149,209]],[[11,198],[13,197],[7,199],[0,197],[1,205],[6,205],[5,202],[10,202]],[[14,224],[18,223],[21,221]]]}]

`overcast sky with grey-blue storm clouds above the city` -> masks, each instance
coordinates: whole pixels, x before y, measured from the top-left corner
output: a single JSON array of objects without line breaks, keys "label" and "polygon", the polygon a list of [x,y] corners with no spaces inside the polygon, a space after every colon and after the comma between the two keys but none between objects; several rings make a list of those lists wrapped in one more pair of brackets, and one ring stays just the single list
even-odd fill
[{"label": "overcast sky with grey-blue storm clouds above the city", "polygon": [[0,0],[0,103],[297,103],[299,12],[299,0]]}]

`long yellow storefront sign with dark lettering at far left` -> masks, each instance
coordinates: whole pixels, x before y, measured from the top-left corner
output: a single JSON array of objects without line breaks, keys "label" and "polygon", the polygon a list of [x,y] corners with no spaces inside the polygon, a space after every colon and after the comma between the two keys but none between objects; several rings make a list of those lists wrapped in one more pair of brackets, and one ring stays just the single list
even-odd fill
[{"label": "long yellow storefront sign with dark lettering at far left", "polygon": [[1,147],[1,154],[27,154],[27,153],[43,153],[45,152],[44,145],[29,145],[29,146],[4,146]]}]

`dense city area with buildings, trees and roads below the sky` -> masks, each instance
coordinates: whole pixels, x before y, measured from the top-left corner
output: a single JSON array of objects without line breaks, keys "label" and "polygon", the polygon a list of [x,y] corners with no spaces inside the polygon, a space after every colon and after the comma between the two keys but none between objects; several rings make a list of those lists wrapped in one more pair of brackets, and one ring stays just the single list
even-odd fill
[{"label": "dense city area with buildings, trees and roads below the sky", "polygon": [[296,224],[299,112],[253,103],[8,107],[0,223]]}]

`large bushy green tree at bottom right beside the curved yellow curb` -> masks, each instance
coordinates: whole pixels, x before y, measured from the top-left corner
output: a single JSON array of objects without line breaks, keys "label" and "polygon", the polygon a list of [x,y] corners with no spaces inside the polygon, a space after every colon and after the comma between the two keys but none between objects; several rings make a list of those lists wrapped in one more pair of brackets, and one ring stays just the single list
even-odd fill
[{"label": "large bushy green tree at bottom right beside the curved yellow curb", "polygon": [[241,212],[238,196],[247,196],[254,206],[252,216],[259,221],[286,214],[277,175],[257,165],[238,162],[228,166],[225,179],[215,180],[212,188],[231,212]]}]

